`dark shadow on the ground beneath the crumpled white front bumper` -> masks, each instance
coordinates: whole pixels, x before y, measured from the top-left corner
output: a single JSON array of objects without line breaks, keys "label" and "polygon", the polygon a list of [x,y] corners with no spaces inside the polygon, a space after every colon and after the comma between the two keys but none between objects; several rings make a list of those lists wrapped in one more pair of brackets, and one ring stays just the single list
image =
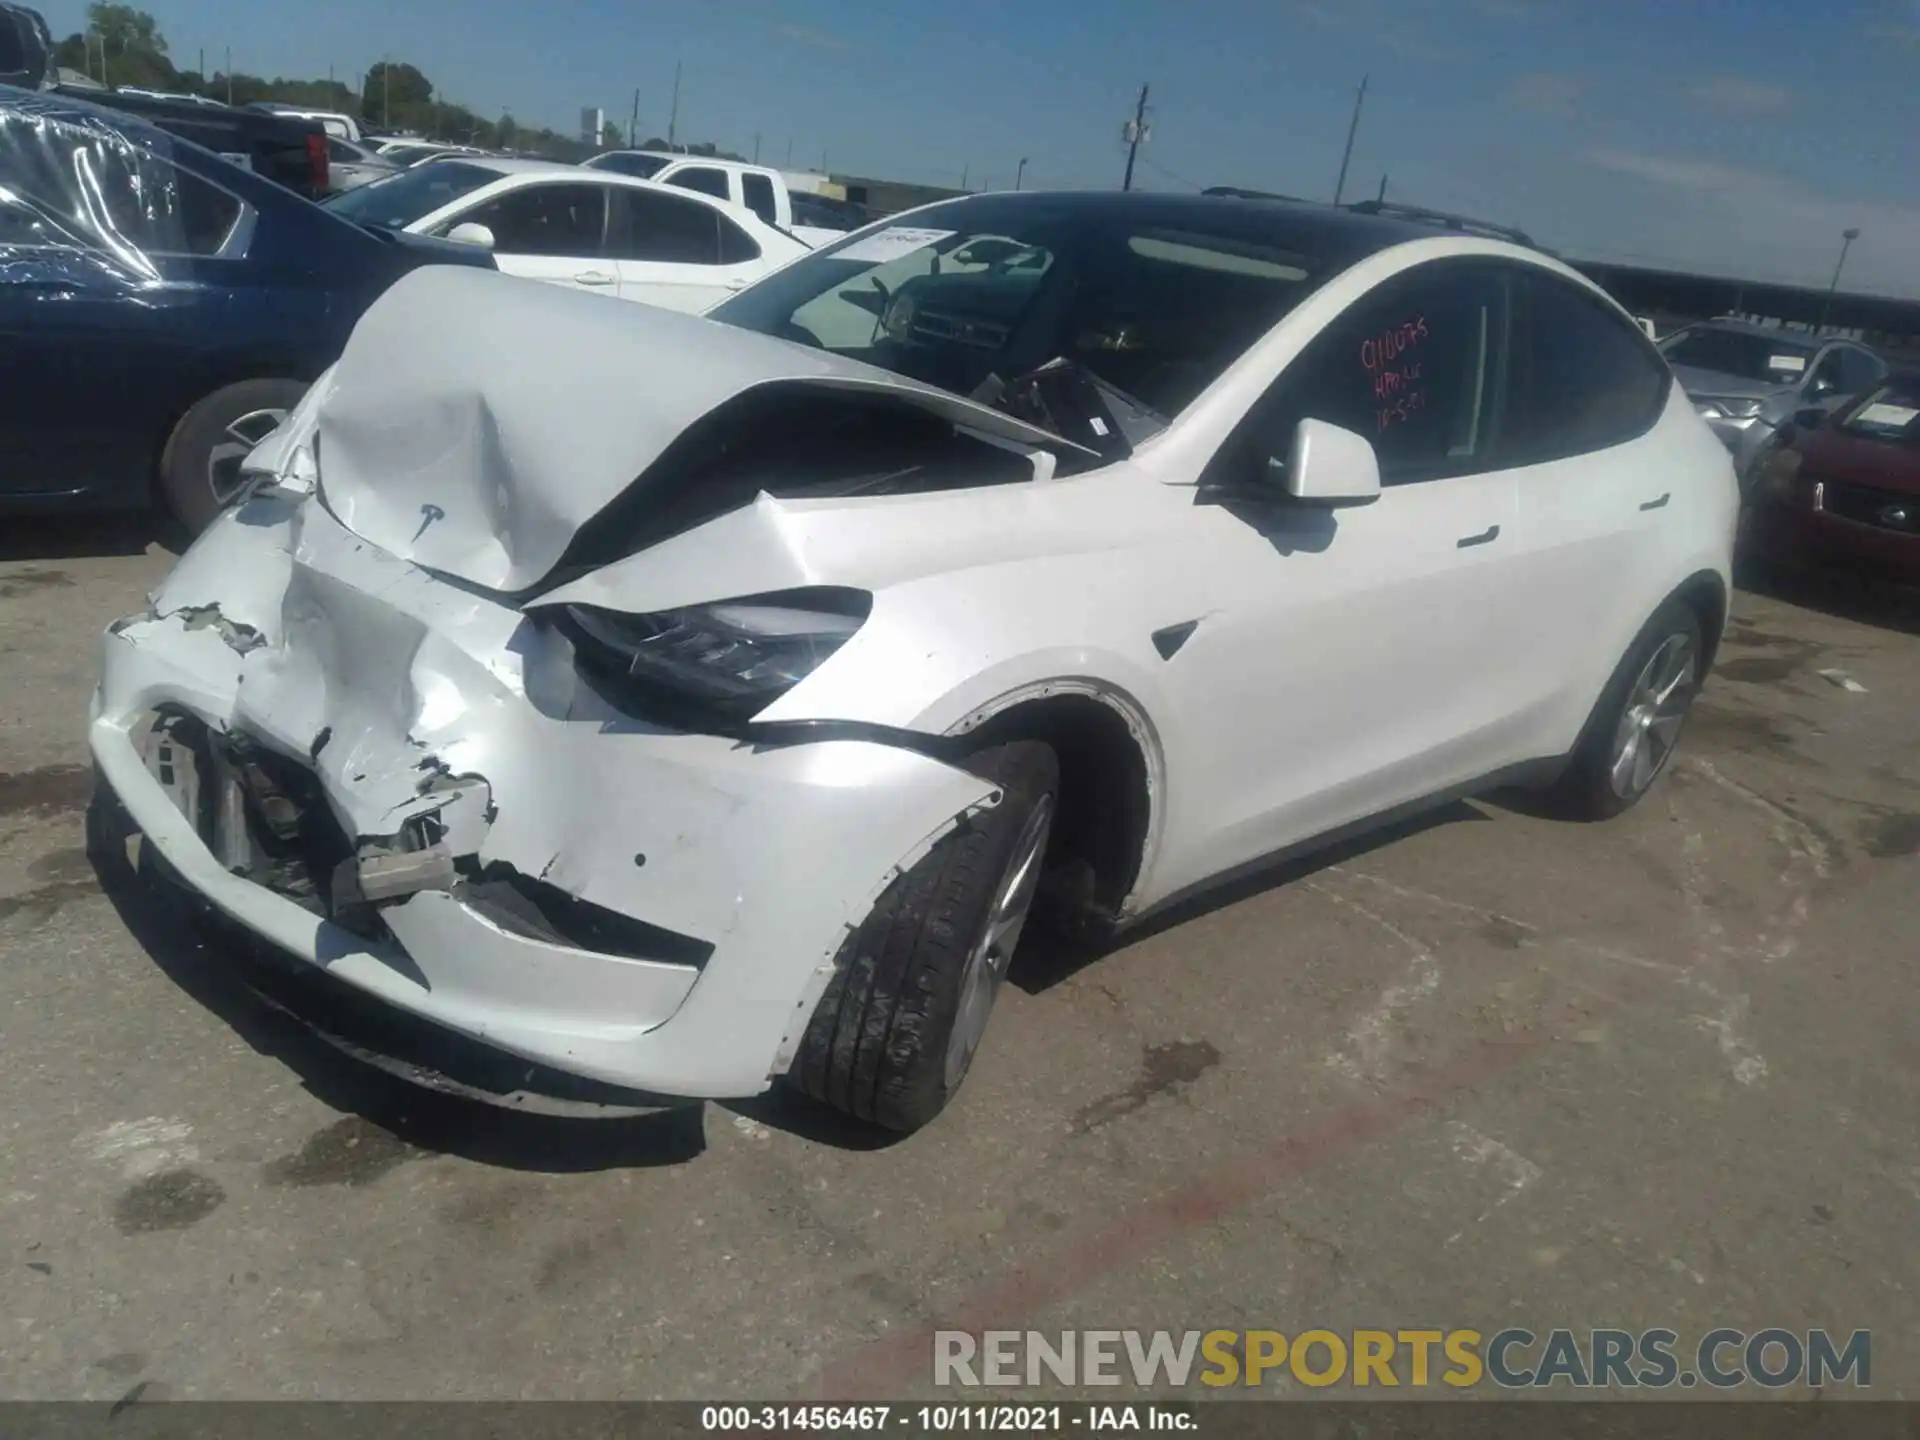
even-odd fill
[{"label": "dark shadow on the ground beneath the crumpled white front bumper", "polygon": [[94,845],[94,874],[127,931],[188,996],[255,1052],[278,1060],[321,1104],[371,1123],[411,1150],[501,1169],[578,1173],[674,1165],[707,1144],[705,1108],[578,1117],[503,1110],[442,1094],[355,1060],[267,998],[271,970],[167,887]]}]

